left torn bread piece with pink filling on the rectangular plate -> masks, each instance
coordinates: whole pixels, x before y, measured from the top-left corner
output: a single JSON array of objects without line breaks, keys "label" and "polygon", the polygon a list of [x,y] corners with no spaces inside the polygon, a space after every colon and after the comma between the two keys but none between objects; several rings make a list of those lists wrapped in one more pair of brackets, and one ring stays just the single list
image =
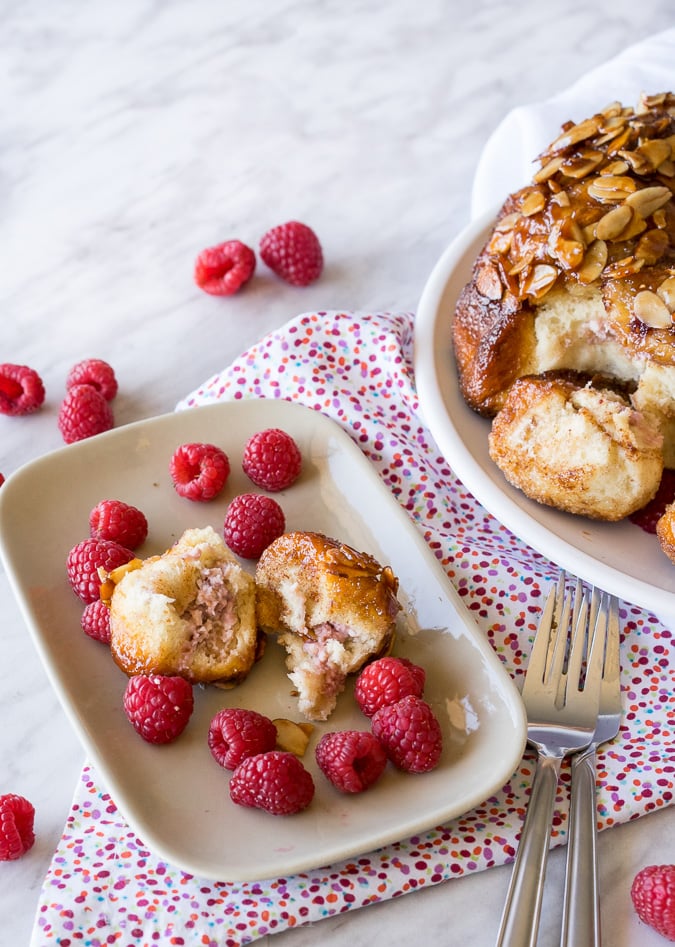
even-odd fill
[{"label": "left torn bread piece with pink filling on the rectangular plate", "polygon": [[115,586],[110,648],[127,674],[243,680],[257,654],[255,581],[210,526],[186,530]]}]

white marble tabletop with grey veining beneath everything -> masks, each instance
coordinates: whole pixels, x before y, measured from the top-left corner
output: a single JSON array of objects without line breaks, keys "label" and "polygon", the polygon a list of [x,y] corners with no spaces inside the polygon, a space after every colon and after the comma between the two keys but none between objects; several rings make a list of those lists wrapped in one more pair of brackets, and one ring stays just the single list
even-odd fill
[{"label": "white marble tabletop with grey veining beneath everything", "polygon": [[[82,357],[115,367],[123,424],[172,410],[298,312],[414,309],[508,109],[675,25],[675,12],[671,0],[0,0],[0,23],[0,360],[35,367],[48,392],[38,415],[0,417],[8,475],[61,446],[58,403]],[[195,288],[199,249],[255,246],[289,218],[324,245],[314,286],[261,268],[229,300]],[[83,753],[4,574],[0,614],[0,792],[37,809],[34,849],[0,864],[0,942],[19,947]],[[611,947],[665,943],[636,920],[629,887],[642,865],[673,861],[674,830],[668,810],[602,835]],[[558,940],[562,855],[543,945]],[[428,944],[492,944],[508,873],[265,941],[393,947],[423,931]]]}]

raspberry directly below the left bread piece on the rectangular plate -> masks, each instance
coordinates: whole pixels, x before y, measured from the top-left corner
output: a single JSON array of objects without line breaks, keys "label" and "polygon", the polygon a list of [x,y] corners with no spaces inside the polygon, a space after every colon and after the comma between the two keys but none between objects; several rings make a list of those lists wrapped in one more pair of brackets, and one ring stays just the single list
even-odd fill
[{"label": "raspberry directly below the left bread piece on the rectangular plate", "polygon": [[192,715],[192,685],[183,677],[137,674],[124,691],[124,710],[148,743],[171,743]]}]

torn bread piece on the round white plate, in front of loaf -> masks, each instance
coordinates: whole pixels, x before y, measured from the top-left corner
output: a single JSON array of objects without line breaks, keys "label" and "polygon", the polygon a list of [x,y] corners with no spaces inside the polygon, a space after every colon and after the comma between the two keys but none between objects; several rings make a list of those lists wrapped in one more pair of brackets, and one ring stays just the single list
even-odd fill
[{"label": "torn bread piece on the round white plate, in front of loaf", "polygon": [[663,437],[619,391],[575,373],[518,379],[492,422],[490,456],[528,497],[620,520],[656,493]]}]

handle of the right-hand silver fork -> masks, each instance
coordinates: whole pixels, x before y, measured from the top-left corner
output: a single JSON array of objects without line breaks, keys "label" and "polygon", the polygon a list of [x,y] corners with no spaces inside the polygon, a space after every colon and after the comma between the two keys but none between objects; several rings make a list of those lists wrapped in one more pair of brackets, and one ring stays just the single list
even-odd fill
[{"label": "handle of the right-hand silver fork", "polygon": [[561,947],[600,945],[595,811],[595,748],[591,746],[572,759]]}]

